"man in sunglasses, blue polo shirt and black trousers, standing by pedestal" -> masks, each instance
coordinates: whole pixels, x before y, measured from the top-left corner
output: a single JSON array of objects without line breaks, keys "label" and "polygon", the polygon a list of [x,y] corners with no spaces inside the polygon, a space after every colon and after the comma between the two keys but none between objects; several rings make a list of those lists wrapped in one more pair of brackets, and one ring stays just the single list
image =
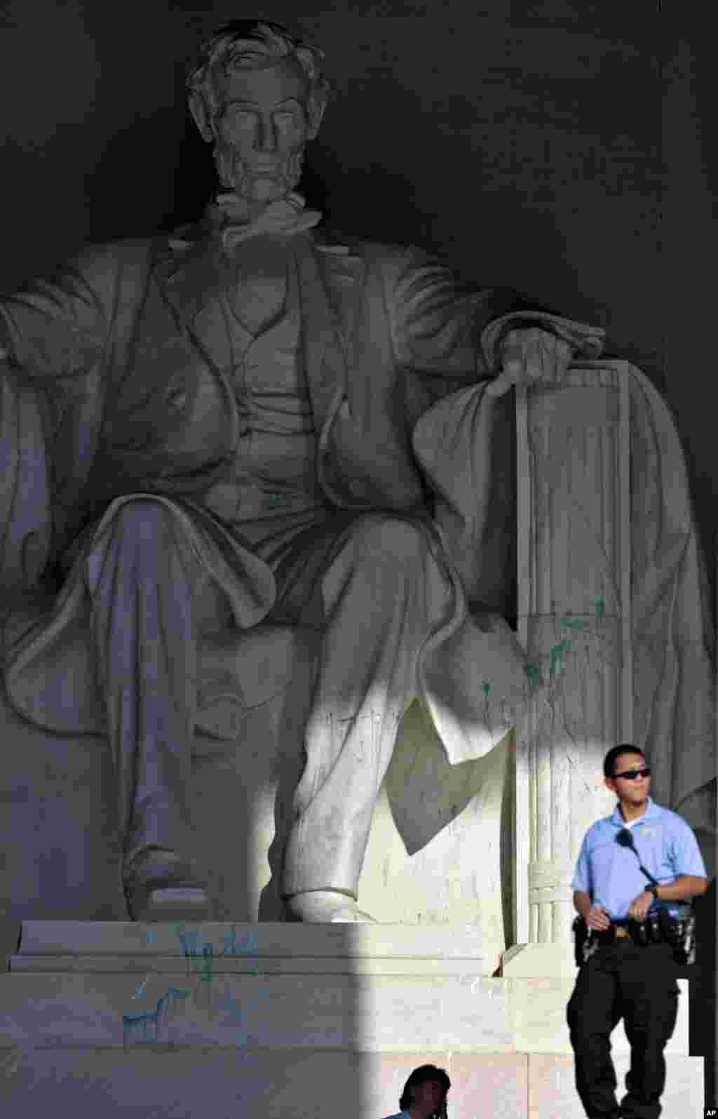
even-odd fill
[{"label": "man in sunglasses, blue polo shirt and black trousers, standing by pedestal", "polygon": [[[574,905],[598,941],[580,967],[567,1008],[576,1089],[588,1119],[658,1119],[665,1083],[663,1049],[676,1026],[678,985],[673,948],[643,944],[639,922],[674,921],[682,901],[706,892],[706,867],[690,827],[649,796],[651,770],[630,744],[604,760],[615,811],[588,828],[574,873]],[[635,850],[616,840],[630,829]],[[636,857],[637,853],[637,857]],[[658,886],[640,869],[640,863]],[[616,1103],[610,1036],[623,1017],[631,1043],[627,1094]]]}]

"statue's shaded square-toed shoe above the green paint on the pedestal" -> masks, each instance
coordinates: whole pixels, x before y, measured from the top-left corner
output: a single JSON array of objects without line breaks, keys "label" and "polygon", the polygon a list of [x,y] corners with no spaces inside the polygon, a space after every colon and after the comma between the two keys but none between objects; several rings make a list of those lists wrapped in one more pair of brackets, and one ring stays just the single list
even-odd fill
[{"label": "statue's shaded square-toed shoe above the green paint on the pedestal", "polygon": [[171,852],[134,861],[124,894],[133,921],[207,921],[209,897],[195,867]]}]

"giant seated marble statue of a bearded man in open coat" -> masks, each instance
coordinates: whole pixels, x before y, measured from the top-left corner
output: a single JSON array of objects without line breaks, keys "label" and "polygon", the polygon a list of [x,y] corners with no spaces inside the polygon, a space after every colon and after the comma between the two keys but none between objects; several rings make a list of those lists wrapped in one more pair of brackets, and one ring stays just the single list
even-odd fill
[{"label": "giant seated marble statue of a bearded man in open coat", "polygon": [[[6,630],[6,692],[39,725],[92,730],[82,678],[63,668],[84,642],[133,920],[160,919],[168,897],[190,918],[207,905],[185,794],[198,662],[215,641],[240,678],[243,638],[267,622],[319,634],[289,915],[372,920],[358,882],[404,713],[423,699],[440,737],[479,756],[498,724],[471,666],[502,666],[507,703],[522,679],[510,627],[471,609],[493,410],[602,349],[601,329],[424,252],[322,232],[295,192],[328,102],[322,58],[275,23],[221,27],[188,77],[220,186],[202,219],[88,248],[0,301],[3,446],[15,440],[2,587],[60,572],[42,617]],[[432,410],[481,384],[462,461]],[[47,491],[38,480],[20,500],[18,471],[40,454],[32,416]],[[37,514],[32,532],[8,529],[11,506]],[[59,698],[40,711],[34,688],[53,673]]]}]

